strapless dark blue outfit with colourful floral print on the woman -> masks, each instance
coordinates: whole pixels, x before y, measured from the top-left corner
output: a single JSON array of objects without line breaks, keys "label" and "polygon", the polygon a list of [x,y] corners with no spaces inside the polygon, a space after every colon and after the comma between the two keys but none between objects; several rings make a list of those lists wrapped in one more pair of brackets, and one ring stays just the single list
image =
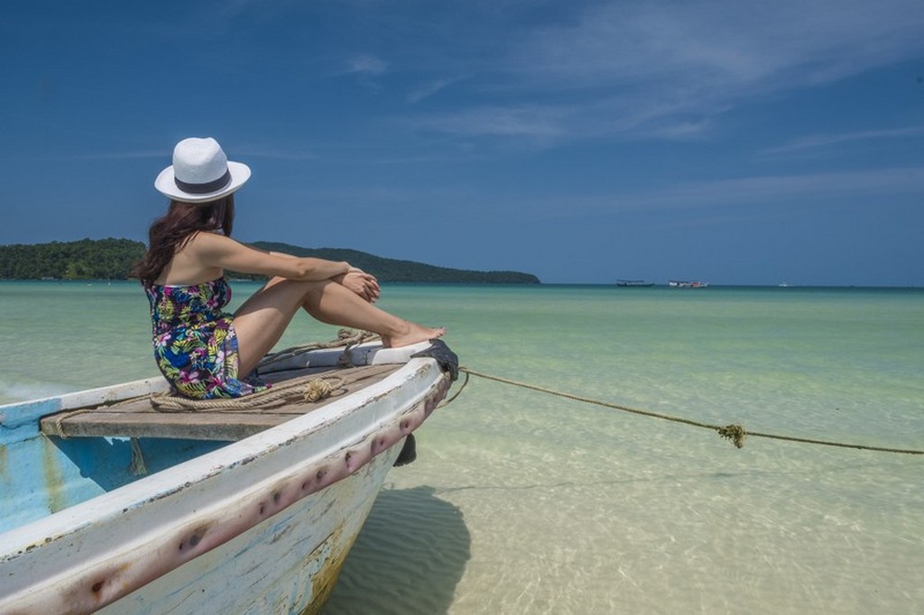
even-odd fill
[{"label": "strapless dark blue outfit with colourful floral print on the woman", "polygon": [[193,399],[240,397],[269,385],[237,378],[237,334],[225,277],[188,286],[145,286],[151,302],[154,358],[174,391]]}]

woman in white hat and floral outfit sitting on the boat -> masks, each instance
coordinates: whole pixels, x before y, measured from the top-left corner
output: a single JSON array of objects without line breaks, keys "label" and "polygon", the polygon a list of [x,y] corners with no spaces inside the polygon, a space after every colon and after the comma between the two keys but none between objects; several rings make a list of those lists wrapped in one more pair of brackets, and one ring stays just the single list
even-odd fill
[{"label": "woman in white hat and floral outfit sitting on the boat", "polygon": [[[171,199],[149,232],[136,268],[151,303],[154,357],[187,397],[237,397],[267,385],[249,374],[282,337],[299,309],[328,324],[378,333],[385,346],[440,337],[372,304],[375,277],[347,262],[266,252],[231,238],[234,192],[249,179],[214,139],[184,139],[154,182]],[[270,276],[234,314],[225,269]]]}]

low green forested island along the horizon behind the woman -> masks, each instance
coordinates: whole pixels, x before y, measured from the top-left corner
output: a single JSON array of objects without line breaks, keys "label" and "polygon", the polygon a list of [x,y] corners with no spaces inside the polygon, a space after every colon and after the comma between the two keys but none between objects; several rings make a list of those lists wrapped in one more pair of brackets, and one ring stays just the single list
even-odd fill
[{"label": "low green forested island along the horizon behind the woman", "polygon": [[[352,249],[297,247],[265,241],[251,245],[295,256],[346,260],[383,283],[540,283],[531,273],[450,269],[413,260],[383,259]],[[140,241],[112,238],[0,246],[0,280],[126,280],[144,255],[144,249]],[[229,274],[235,278],[261,279],[244,273]]]}]

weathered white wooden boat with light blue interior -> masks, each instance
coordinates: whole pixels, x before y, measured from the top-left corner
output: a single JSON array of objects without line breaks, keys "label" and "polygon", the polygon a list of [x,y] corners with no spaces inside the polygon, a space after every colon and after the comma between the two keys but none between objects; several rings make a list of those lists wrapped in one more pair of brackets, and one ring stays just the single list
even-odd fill
[{"label": "weathered white wooden boat with light blue interior", "polygon": [[[261,376],[316,383],[343,351]],[[348,356],[315,403],[158,412],[157,378],[0,406],[0,613],[320,610],[457,373],[440,341]]]}]

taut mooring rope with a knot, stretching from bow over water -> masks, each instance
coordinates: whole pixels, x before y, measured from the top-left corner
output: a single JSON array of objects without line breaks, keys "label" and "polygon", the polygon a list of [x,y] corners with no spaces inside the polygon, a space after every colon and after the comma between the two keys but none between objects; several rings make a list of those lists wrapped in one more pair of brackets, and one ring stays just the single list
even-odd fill
[{"label": "taut mooring rope with a knot, stretching from bow over water", "polygon": [[629,407],[626,405],[620,405],[620,404],[611,404],[609,402],[602,402],[601,400],[591,399],[590,397],[583,397],[581,395],[575,395],[572,393],[553,391],[553,389],[547,389],[545,387],[541,387],[535,384],[529,384],[528,382],[519,382],[517,380],[501,378],[500,376],[492,376],[491,374],[485,374],[480,371],[475,371],[473,369],[469,369],[465,367],[460,367],[459,371],[464,373],[466,375],[466,378],[462,382],[462,385],[459,388],[459,390],[456,392],[456,394],[453,395],[450,399],[446,400],[444,404],[450,404],[456,400],[456,397],[458,397],[459,394],[462,392],[462,390],[465,389],[466,385],[468,384],[468,376],[471,375],[471,376],[478,376],[479,378],[483,378],[485,380],[494,380],[495,382],[501,382],[503,384],[510,384],[513,386],[521,387],[523,389],[529,389],[531,391],[538,391],[538,392],[543,392],[543,393],[547,393],[550,395],[555,395],[556,397],[564,397],[565,399],[570,399],[576,402],[583,402],[585,404],[595,404],[595,405],[603,406],[605,408],[612,408],[614,410],[621,410],[623,412],[629,412],[635,415],[651,416],[652,418],[661,418],[665,421],[672,421],[674,423],[683,423],[684,425],[691,425],[693,427],[711,429],[712,431],[717,432],[723,438],[732,440],[732,443],[734,443],[735,446],[739,449],[744,446],[745,438],[747,436],[752,436],[754,438],[769,438],[772,440],[787,440],[790,442],[800,442],[803,444],[820,444],[822,446],[838,446],[838,447],[846,448],[846,449],[859,449],[861,451],[900,452],[900,453],[909,454],[909,455],[924,454],[924,451],[918,451],[915,449],[893,449],[893,448],[887,448],[887,447],[882,447],[882,446],[869,446],[866,444],[851,444],[851,443],[846,443],[846,442],[834,442],[831,440],[813,440],[810,438],[796,438],[795,436],[781,436],[779,434],[761,433],[760,431],[747,431],[742,426],[734,424],[734,423],[732,425],[726,425],[724,427],[721,425],[711,425],[709,423],[701,423],[699,421],[694,421],[689,418],[682,418],[680,416],[663,415],[658,412],[651,412],[650,410],[639,410],[638,408],[632,408],[632,407]]}]

